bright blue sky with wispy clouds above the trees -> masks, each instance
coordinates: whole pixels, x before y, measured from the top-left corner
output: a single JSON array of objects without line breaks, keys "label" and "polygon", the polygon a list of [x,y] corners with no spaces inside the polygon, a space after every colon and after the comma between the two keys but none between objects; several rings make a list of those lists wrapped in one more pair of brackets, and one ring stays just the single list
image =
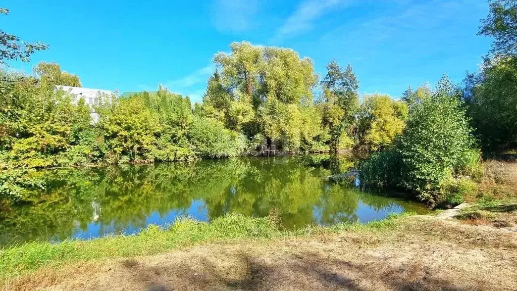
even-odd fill
[{"label": "bright blue sky with wispy clouds above the trees", "polygon": [[[116,2],[116,3],[115,3]],[[124,3],[124,4],[122,4]],[[200,100],[212,56],[232,41],[292,48],[322,76],[336,59],[351,63],[360,93],[397,97],[410,84],[434,84],[447,72],[461,82],[488,52],[476,36],[483,0],[4,0],[2,29],[50,45],[32,72],[55,61],[83,86],[125,92],[161,83]]]}]

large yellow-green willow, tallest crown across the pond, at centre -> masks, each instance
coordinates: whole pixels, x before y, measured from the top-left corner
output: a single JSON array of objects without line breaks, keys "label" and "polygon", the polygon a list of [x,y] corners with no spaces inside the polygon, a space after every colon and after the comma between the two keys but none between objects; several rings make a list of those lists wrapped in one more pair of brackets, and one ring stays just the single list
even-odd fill
[{"label": "large yellow-green willow, tallest crown across the pond, at centre", "polygon": [[205,114],[242,130],[249,139],[277,141],[287,151],[310,150],[320,134],[313,105],[312,60],[291,49],[234,42],[216,54],[219,72],[204,96]]}]

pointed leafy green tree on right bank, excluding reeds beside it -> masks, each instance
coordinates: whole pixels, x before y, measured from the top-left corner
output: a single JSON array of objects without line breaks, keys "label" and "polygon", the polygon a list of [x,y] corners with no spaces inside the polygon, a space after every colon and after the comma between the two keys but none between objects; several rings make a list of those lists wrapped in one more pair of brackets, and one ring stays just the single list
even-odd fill
[{"label": "pointed leafy green tree on right bank, excluding reeds beside it", "polygon": [[444,76],[434,95],[409,111],[399,147],[403,186],[422,200],[442,199],[440,186],[458,172],[474,147],[470,131],[457,93]]}]

